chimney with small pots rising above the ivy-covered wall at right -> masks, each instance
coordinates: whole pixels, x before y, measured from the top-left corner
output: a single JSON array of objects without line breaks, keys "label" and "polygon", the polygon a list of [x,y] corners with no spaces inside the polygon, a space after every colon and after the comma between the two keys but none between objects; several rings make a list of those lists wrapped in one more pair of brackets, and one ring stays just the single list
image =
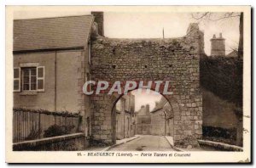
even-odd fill
[{"label": "chimney with small pots rising above the ivy-covered wall at right", "polygon": [[222,37],[222,33],[219,33],[219,37],[212,36],[211,56],[225,56],[225,39]]}]

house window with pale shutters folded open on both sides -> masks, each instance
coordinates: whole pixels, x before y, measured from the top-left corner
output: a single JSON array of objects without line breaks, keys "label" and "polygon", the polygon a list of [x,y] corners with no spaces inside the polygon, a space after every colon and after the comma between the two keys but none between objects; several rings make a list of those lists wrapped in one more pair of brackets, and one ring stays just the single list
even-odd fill
[{"label": "house window with pale shutters folded open on both sides", "polygon": [[44,91],[44,66],[14,68],[14,92],[20,92],[20,87],[22,91]]}]

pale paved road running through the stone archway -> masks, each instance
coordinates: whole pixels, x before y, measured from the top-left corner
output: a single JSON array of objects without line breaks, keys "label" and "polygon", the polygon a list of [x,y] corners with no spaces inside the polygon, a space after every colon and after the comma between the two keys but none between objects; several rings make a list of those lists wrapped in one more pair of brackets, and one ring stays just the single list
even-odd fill
[{"label": "pale paved road running through the stone archway", "polygon": [[131,142],[120,144],[110,151],[174,151],[166,137],[145,135]]}]

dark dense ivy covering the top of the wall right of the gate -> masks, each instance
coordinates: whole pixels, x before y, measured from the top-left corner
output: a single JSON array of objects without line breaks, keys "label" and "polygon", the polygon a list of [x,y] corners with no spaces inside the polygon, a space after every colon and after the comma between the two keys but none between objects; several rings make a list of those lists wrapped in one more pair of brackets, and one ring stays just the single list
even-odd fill
[{"label": "dark dense ivy covering the top of the wall right of the gate", "polygon": [[201,86],[242,107],[242,59],[202,56]]}]

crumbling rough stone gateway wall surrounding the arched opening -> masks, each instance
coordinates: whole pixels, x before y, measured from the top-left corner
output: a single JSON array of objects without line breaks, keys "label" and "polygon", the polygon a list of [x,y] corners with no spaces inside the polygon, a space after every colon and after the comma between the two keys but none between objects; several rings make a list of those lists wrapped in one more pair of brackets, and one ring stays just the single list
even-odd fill
[{"label": "crumbling rough stone gateway wall surrounding the arched opening", "polygon": [[[203,34],[196,24],[189,25],[186,36],[172,39],[97,36],[91,48],[91,80],[112,84],[114,81],[171,81],[169,89],[173,94],[164,96],[174,111],[174,143],[177,144],[191,135],[201,138],[200,53],[203,53]],[[92,138],[111,144],[115,143],[113,107],[121,95],[107,92],[91,96]]]}]

